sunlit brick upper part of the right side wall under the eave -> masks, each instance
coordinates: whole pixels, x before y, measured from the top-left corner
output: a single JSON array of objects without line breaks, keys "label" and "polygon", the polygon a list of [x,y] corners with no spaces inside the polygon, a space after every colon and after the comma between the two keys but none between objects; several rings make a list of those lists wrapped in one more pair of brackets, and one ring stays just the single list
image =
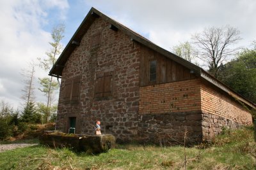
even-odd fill
[{"label": "sunlit brick upper part of the right side wall under the eave", "polygon": [[252,115],[228,94],[222,94],[211,85],[201,85],[202,111],[234,120],[238,124],[252,124]]}]

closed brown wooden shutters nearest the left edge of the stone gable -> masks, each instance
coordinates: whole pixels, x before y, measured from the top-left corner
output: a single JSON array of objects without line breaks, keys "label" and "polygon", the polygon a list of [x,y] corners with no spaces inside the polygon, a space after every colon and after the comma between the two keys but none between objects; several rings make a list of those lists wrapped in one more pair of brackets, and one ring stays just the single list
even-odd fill
[{"label": "closed brown wooden shutters nearest the left edge of the stone gable", "polygon": [[65,81],[63,101],[65,104],[76,104],[79,102],[80,76]]}]

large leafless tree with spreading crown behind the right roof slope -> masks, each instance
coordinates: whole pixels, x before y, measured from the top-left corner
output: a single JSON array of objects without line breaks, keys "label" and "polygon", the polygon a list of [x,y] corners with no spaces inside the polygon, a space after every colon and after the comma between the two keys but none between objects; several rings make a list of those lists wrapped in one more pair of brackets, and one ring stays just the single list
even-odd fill
[{"label": "large leafless tree with spreading crown behind the right roof slope", "polygon": [[238,48],[233,48],[241,37],[234,27],[208,27],[203,32],[192,36],[197,47],[198,58],[206,62],[209,73],[218,78],[219,69],[223,61],[234,55]]}]

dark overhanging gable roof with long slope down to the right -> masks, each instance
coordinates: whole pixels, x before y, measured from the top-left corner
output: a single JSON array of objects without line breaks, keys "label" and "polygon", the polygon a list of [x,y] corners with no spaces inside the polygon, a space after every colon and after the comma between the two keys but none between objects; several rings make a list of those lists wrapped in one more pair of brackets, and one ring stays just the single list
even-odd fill
[{"label": "dark overhanging gable roof with long slope down to the right", "polygon": [[221,81],[218,81],[216,78],[214,78],[209,73],[204,71],[204,69],[202,69],[201,67],[198,67],[195,64],[189,62],[188,60],[182,59],[181,57],[179,57],[171,52],[168,52],[167,50],[164,50],[160,46],[157,46],[156,44],[149,41],[147,38],[144,38],[140,34],[132,31],[131,29],[125,27],[124,25],[120,24],[119,22],[116,22],[112,18],[109,18],[108,16],[104,15],[102,12],[96,10],[95,8],[91,8],[91,10],[88,12],[88,14],[84,18],[83,22],[81,23],[81,25],[79,25],[77,31],[75,32],[75,34],[72,36],[72,38],[68,42],[67,46],[61,53],[60,57],[55,62],[54,66],[52,66],[52,69],[49,72],[50,76],[55,76],[55,77],[61,78],[62,71],[65,66],[65,63],[68,60],[68,57],[74,51],[77,44],[80,43],[81,39],[83,38],[83,35],[88,31],[88,29],[90,28],[90,25],[92,25],[93,21],[99,17],[102,17],[104,20],[109,22],[109,24],[116,27],[116,29],[118,29],[118,30],[124,32],[125,34],[127,34],[128,36],[130,36],[132,41],[141,43],[142,45],[145,45],[148,48],[151,48],[152,50],[155,50],[156,52],[161,53],[162,55],[168,57],[169,59],[172,59],[175,62],[178,62],[182,66],[187,67],[188,69],[193,71],[193,73],[195,73],[197,76],[204,78],[204,80],[209,81],[210,83],[212,83],[219,89],[224,90],[231,96],[235,97],[236,99],[239,99],[239,101],[242,101],[243,103],[247,104],[248,106],[250,106],[252,108],[256,108],[256,105],[253,104],[251,101],[248,101],[248,99],[245,99],[243,96],[234,92],[234,90],[227,87],[227,85],[224,85],[223,83],[221,83]]}]

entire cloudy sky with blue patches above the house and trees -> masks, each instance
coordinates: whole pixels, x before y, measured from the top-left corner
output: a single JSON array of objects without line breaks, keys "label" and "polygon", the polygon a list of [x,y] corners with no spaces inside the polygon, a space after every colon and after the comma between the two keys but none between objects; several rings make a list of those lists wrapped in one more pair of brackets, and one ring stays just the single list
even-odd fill
[{"label": "entire cloudy sky with blue patches above the house and trees", "polygon": [[[22,69],[49,52],[56,24],[65,24],[65,47],[92,7],[166,50],[212,26],[239,29],[243,39],[238,46],[248,47],[256,40],[255,0],[1,0],[0,101],[22,109]],[[36,102],[47,101],[38,90],[38,77],[47,74],[36,67]]]}]

